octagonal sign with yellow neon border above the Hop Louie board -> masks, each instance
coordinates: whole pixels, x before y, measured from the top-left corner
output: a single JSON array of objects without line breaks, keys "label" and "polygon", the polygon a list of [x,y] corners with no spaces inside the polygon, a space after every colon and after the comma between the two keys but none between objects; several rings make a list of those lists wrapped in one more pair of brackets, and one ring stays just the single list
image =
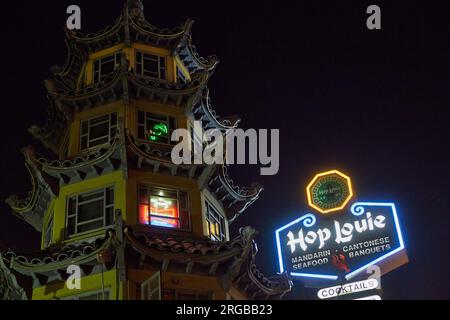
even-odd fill
[{"label": "octagonal sign with yellow neon border above the Hop Louie board", "polygon": [[322,214],[340,211],[353,197],[352,182],[337,170],[317,174],[306,187],[308,204]]}]

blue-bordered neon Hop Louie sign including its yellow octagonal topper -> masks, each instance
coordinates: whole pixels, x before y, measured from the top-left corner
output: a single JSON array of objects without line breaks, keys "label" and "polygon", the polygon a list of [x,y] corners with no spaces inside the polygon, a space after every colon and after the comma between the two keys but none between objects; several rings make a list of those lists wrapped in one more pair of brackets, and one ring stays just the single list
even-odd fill
[{"label": "blue-bordered neon Hop Louie sign including its yellow octagonal topper", "polygon": [[[356,202],[346,208],[353,196],[347,176],[331,171],[314,180],[307,188],[308,200],[319,199],[335,207],[325,204],[322,209],[326,210],[321,210],[317,202],[311,205],[309,201],[320,215],[305,214],[276,231],[280,272],[287,271],[294,277],[337,280],[342,276],[348,280],[404,250],[393,203]],[[335,213],[330,215],[332,211]]]}]

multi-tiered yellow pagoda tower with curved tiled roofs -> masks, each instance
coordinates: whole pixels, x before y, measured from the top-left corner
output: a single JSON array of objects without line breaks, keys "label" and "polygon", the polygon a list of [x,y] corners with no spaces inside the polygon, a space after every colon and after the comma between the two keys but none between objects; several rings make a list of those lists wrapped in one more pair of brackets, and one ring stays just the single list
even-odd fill
[{"label": "multi-tiered yellow pagoda tower with curved tiled roofs", "polygon": [[[32,190],[7,203],[42,233],[41,251],[0,250],[0,300],[280,299],[287,275],[255,266],[256,231],[236,221],[262,191],[224,165],[175,165],[171,133],[226,134],[208,80],[218,60],[192,45],[192,21],[168,30],[127,1],[96,34],[66,30],[64,67],[45,81],[48,121],[23,149]],[[195,140],[195,139],[194,139]],[[43,152],[41,152],[43,153]],[[79,271],[79,286],[72,276]]]}]

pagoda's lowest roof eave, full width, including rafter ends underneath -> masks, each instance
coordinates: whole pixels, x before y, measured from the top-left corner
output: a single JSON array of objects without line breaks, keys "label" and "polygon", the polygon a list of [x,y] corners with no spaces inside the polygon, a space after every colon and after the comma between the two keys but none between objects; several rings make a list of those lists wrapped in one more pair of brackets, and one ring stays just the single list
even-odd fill
[{"label": "pagoda's lowest roof eave, full width, including rafter ends underneath", "polygon": [[[33,280],[33,288],[38,288],[65,281],[67,267],[73,264],[81,267],[83,276],[102,272],[103,263],[110,270],[115,266],[114,257],[123,254],[128,256],[129,268],[146,268],[156,263],[163,272],[179,272],[181,267],[187,274],[216,276],[225,290],[238,287],[250,299],[280,299],[291,291],[292,283],[286,274],[267,278],[256,268],[256,231],[251,227],[242,228],[240,235],[229,242],[181,239],[149,233],[146,228],[134,232],[130,226],[124,226],[123,231],[118,231],[122,229],[116,224],[116,231],[106,231],[103,238],[54,245],[33,255],[7,250],[0,255],[0,279],[7,276],[15,280],[16,275],[29,277]],[[116,232],[123,232],[123,236]],[[119,239],[124,239],[126,245]],[[20,299],[26,298],[17,282],[10,281],[5,288],[17,290]]]}]

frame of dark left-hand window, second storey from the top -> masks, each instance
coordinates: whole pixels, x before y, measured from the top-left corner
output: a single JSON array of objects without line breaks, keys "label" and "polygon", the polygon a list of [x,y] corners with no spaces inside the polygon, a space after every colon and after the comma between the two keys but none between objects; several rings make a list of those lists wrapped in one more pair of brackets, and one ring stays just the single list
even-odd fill
[{"label": "frame of dark left-hand window, second storey from the top", "polygon": [[[106,119],[106,117],[108,117],[108,119]],[[101,118],[105,118],[105,120],[99,122],[99,123],[94,123],[94,121],[98,121],[98,119]],[[85,119],[82,120],[80,122],[80,151],[89,151],[92,149],[96,149],[96,148],[101,148],[103,146],[109,145],[111,143],[111,140],[115,137],[116,133],[117,133],[117,128],[118,128],[118,115],[117,112],[111,112],[108,114],[102,114],[102,115],[98,115],[95,117],[91,117],[89,119]],[[95,137],[93,139],[91,139],[91,130],[92,128],[96,127],[96,126],[100,126],[103,124],[108,124],[108,134],[105,134],[103,136],[100,137]],[[85,127],[87,128],[85,131]],[[86,139],[85,141],[83,141],[84,139]],[[104,143],[100,143],[100,144],[95,144],[97,141],[101,141],[101,140],[105,140],[107,139],[106,142]]]}]

